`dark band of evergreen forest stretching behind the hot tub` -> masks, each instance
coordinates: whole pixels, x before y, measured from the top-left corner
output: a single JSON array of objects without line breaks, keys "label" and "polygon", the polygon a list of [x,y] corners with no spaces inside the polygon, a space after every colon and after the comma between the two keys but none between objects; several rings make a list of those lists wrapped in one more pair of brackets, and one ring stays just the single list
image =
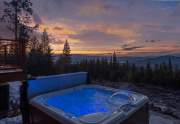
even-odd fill
[{"label": "dark band of evergreen forest stretching behind the hot tub", "polygon": [[[113,66],[113,57],[109,60],[104,58],[84,59],[79,63],[71,65],[70,72],[87,71],[92,79],[97,81],[106,80],[111,83],[131,82],[144,85],[159,85],[163,87],[180,88],[180,69],[172,66],[171,59],[168,63],[151,64],[137,66],[136,64],[125,62],[116,63]],[[109,84],[112,85],[112,84]],[[116,83],[114,84],[116,85]]]}]

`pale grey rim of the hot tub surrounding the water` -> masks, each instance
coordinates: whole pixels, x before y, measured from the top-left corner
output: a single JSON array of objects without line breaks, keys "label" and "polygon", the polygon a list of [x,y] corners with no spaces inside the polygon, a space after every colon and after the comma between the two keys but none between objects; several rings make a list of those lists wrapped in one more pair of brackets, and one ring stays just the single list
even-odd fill
[{"label": "pale grey rim of the hot tub surrounding the water", "polygon": [[[98,85],[82,85],[77,86],[73,88],[69,88],[66,90],[56,91],[53,93],[43,94],[40,96],[37,96],[30,101],[30,105],[34,106],[35,108],[39,109],[40,111],[46,113],[48,116],[51,116],[53,119],[55,119],[57,122],[60,123],[67,123],[67,124],[115,124],[115,123],[123,123],[123,121],[128,120],[131,116],[133,116],[134,113],[136,113],[139,109],[142,108],[142,106],[146,106],[146,103],[148,102],[147,97],[140,95],[141,100],[135,105],[129,108],[129,110],[116,110],[113,113],[109,113],[107,117],[99,117],[98,114],[96,114],[94,117],[89,117],[91,122],[89,122],[87,119],[81,120],[81,118],[78,117],[70,117],[67,113],[64,111],[55,108],[53,106],[47,105],[46,101],[48,98],[51,98],[52,96],[56,95],[63,95],[65,92],[73,92],[74,90],[79,90],[83,88],[96,88],[96,89],[104,89],[107,91],[113,91],[114,93],[120,92],[117,89],[112,89],[108,87],[98,86]],[[126,92],[126,91],[122,91]],[[130,92],[130,91],[127,91]],[[131,92],[133,94],[133,92]],[[74,103],[76,104],[76,103]],[[143,108],[145,109],[145,108]],[[141,110],[142,112],[143,110]],[[146,111],[144,111],[146,112]],[[146,113],[144,113],[146,114]],[[98,118],[98,119],[97,119]],[[103,119],[104,118],[104,119]],[[142,118],[142,116],[141,116]],[[143,115],[144,118],[144,115]],[[137,119],[137,118],[135,118]],[[97,121],[98,120],[98,121]],[[139,119],[138,119],[139,120]],[[133,123],[134,124],[134,123]],[[138,124],[147,124],[147,123],[138,123]]]}]

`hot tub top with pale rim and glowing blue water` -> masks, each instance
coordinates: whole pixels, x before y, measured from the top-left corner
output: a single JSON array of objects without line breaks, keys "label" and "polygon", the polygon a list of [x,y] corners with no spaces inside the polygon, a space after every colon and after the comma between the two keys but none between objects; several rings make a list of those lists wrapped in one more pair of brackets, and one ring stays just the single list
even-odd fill
[{"label": "hot tub top with pale rim and glowing blue water", "polygon": [[98,85],[81,85],[36,96],[30,104],[60,123],[114,124],[148,102],[144,95]]}]

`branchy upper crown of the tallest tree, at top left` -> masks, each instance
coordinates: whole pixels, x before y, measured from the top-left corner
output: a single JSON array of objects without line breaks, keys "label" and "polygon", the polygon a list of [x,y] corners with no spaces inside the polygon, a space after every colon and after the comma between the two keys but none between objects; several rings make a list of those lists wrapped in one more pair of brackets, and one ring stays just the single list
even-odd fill
[{"label": "branchy upper crown of the tallest tree, at top left", "polygon": [[[31,30],[27,25],[32,21],[32,3],[30,0],[11,0],[4,1],[6,8],[1,21],[8,23],[7,28],[15,33],[15,39],[27,37]],[[26,33],[24,35],[23,33]]]}]

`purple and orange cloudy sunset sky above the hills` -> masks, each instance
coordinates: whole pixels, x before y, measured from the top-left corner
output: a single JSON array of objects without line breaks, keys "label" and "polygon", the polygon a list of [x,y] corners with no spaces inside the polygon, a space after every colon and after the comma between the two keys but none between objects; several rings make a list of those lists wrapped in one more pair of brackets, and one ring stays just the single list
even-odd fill
[{"label": "purple and orange cloudy sunset sky above the hills", "polygon": [[74,54],[180,53],[180,0],[32,1],[39,30],[54,37],[54,53],[66,39]]}]

